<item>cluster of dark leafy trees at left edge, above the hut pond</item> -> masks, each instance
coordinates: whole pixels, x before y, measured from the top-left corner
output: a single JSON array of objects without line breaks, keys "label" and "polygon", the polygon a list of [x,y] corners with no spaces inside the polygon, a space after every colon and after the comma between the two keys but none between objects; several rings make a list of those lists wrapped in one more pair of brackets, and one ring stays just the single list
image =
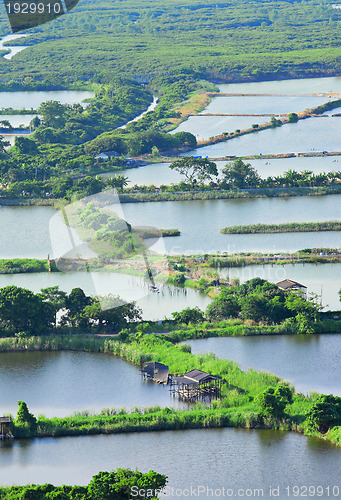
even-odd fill
[{"label": "cluster of dark leafy trees at left edge, above the hut pond", "polygon": [[25,288],[9,285],[0,289],[0,335],[26,337],[46,334],[57,326],[57,315],[63,313],[59,327],[98,331],[119,331],[130,322],[141,320],[141,310],[134,302],[120,297],[86,296],[81,288],[69,294],[58,286],[43,288],[34,294]]}]

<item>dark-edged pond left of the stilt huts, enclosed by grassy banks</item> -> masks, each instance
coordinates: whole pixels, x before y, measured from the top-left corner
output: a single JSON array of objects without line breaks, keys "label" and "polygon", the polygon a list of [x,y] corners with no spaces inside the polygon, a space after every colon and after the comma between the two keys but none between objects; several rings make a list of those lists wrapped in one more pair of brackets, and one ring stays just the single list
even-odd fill
[{"label": "dark-edged pond left of the stilt huts, enclosed by grassy banks", "polygon": [[25,401],[34,415],[65,417],[102,408],[183,407],[169,387],[143,381],[139,368],[112,354],[0,353],[0,414]]}]

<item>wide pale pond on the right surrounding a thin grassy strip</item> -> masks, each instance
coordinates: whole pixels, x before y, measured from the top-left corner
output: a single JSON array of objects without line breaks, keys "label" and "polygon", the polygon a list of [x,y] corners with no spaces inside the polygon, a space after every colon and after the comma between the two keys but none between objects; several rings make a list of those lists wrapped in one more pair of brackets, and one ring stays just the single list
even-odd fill
[{"label": "wide pale pond on the right surrounding a thin grassy strip", "polygon": [[[339,232],[231,234],[226,226],[256,223],[313,222],[340,219],[337,195],[251,200],[158,202],[122,205],[128,222],[153,227],[172,227],[181,236],[165,238],[170,254],[296,251],[302,248],[341,244]],[[199,214],[199,215],[198,215]]]}]

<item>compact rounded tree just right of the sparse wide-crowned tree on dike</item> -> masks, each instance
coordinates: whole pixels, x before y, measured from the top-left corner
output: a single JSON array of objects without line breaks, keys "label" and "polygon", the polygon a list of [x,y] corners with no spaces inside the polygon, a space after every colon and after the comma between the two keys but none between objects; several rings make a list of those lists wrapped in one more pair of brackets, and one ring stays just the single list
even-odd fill
[{"label": "compact rounded tree just right of the sparse wide-crowned tree on dike", "polygon": [[233,163],[228,163],[223,169],[222,187],[227,189],[255,188],[260,182],[260,177],[250,163],[244,163],[238,158]]}]

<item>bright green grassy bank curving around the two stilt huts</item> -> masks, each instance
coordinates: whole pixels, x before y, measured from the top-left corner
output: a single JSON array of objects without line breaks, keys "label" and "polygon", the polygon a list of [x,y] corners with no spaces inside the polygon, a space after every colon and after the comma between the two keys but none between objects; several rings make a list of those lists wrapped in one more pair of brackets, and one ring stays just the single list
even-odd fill
[{"label": "bright green grassy bank curving around the two stilt huts", "polygon": [[[81,336],[0,341],[0,350],[30,348],[100,351],[112,353],[136,365],[144,361],[159,361],[167,364],[171,373],[184,373],[197,368],[222,377],[222,399],[212,402],[210,406],[197,404],[184,411],[156,407],[127,412],[124,409],[107,408],[100,415],[76,414],[73,417],[52,419],[39,417],[34,433],[30,433],[25,426],[18,426],[14,431],[18,436],[69,436],[214,427],[274,428],[310,433],[305,414],[313,406],[316,395],[306,397],[294,394],[283,418],[264,418],[255,398],[269,387],[283,383],[279,377],[254,370],[246,373],[237,363],[217,359],[213,354],[194,356],[186,346],[173,345],[160,336],[144,336],[130,343]],[[340,428],[334,427],[330,435],[314,434],[339,444],[340,431]]]}]

